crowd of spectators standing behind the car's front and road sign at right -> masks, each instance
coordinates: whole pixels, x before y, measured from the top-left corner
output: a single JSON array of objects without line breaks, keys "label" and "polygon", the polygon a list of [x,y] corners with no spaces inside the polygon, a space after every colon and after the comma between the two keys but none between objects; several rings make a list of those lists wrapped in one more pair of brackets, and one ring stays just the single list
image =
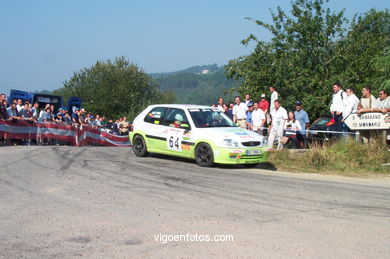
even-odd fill
[{"label": "crowd of spectators standing behind the car's front and road sign at right", "polygon": [[[376,99],[371,94],[371,88],[365,86],[359,99],[353,88],[344,91],[340,83],[334,83],[332,89],[330,116],[335,121],[334,130],[340,136],[345,136],[348,131],[344,120],[351,113],[390,112],[390,97],[386,90],[380,90],[379,98]],[[278,148],[283,148],[284,145],[291,148],[307,147],[306,136],[310,120],[308,113],[303,109],[302,101],[297,100],[295,110],[287,112],[274,86],[269,87],[269,100],[265,93],[261,94],[259,101],[253,101],[249,94],[245,94],[243,100],[236,96],[234,102],[228,103],[220,97],[213,106],[224,112],[238,126],[267,137],[270,148],[274,147],[275,141]],[[367,142],[370,131],[365,130],[360,134],[363,137],[362,141]]]}]

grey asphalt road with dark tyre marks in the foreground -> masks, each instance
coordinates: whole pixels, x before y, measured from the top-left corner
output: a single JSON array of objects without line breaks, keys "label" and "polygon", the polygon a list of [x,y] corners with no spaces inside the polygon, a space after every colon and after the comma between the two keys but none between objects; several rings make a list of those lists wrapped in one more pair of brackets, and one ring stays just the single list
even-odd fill
[{"label": "grey asphalt road with dark tyre marks in the foreground", "polygon": [[[182,242],[165,242],[175,234]],[[205,235],[233,241],[195,241]],[[388,178],[201,168],[129,148],[0,147],[0,257],[389,255]]]}]

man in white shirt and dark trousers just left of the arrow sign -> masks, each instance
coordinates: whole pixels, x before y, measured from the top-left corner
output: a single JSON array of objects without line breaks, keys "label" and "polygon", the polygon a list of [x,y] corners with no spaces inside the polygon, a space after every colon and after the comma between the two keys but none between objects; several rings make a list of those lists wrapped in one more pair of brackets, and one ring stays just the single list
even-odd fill
[{"label": "man in white shirt and dark trousers just left of the arrow sign", "polygon": [[333,96],[332,103],[330,105],[330,113],[332,114],[335,120],[335,130],[341,132],[342,131],[342,122],[343,119],[343,111],[344,111],[344,100],[346,100],[347,96],[342,89],[340,83],[336,82],[332,86]]}]

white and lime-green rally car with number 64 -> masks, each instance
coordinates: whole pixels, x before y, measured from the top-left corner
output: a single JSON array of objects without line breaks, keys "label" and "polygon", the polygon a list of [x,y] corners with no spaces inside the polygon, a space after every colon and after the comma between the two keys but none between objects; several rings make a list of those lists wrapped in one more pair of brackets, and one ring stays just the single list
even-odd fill
[{"label": "white and lime-green rally car with number 64", "polygon": [[267,146],[256,132],[237,127],[217,108],[151,105],[133,121],[130,142],[136,156],[149,152],[195,159],[200,166],[266,161]]}]

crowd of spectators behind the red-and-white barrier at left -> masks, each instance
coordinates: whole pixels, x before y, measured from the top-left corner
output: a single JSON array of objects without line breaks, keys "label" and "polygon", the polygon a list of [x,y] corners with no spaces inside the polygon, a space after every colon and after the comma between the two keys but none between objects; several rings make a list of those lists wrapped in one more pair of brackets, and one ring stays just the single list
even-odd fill
[{"label": "crowd of spectators behind the red-and-white barrier at left", "polygon": [[56,123],[61,125],[72,125],[74,127],[90,127],[115,135],[127,135],[130,123],[126,117],[106,121],[104,116],[92,114],[85,109],[74,107],[72,111],[46,104],[39,108],[39,103],[31,104],[22,99],[14,99],[7,102],[5,94],[0,94],[0,120],[28,121],[36,123]]}]

